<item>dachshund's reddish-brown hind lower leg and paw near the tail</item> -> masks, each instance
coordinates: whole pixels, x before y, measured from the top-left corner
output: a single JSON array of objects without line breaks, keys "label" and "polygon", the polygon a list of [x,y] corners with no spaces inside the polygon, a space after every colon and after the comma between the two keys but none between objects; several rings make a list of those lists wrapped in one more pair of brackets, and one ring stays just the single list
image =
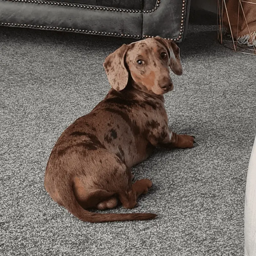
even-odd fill
[{"label": "dachshund's reddish-brown hind lower leg and paw near the tail", "polygon": [[137,198],[141,194],[147,194],[148,189],[152,187],[152,181],[148,179],[137,180],[132,184],[132,188],[128,192],[119,193],[119,199],[124,208],[132,209],[137,204]]}]

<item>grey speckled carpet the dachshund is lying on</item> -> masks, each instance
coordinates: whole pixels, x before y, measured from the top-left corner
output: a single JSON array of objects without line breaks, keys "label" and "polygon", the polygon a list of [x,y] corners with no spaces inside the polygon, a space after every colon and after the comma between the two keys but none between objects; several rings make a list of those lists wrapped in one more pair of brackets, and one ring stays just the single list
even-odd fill
[{"label": "grey speckled carpet the dachshund is lying on", "polygon": [[256,58],[222,47],[216,26],[189,24],[184,75],[172,75],[174,91],[165,96],[170,127],[195,135],[196,147],[157,150],[134,168],[136,179],[153,181],[150,192],[133,210],[108,211],[157,219],[84,223],[44,190],[54,143],[104,98],[102,63],[130,42],[0,27],[1,255],[243,255]]}]

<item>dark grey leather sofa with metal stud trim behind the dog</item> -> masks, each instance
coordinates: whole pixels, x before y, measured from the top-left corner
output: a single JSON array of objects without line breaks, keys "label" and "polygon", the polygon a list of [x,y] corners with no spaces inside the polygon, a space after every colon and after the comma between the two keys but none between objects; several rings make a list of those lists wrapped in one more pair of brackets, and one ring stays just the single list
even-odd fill
[{"label": "dark grey leather sofa with metal stud trim behind the dog", "polygon": [[0,25],[181,42],[189,7],[190,0],[0,0]]}]

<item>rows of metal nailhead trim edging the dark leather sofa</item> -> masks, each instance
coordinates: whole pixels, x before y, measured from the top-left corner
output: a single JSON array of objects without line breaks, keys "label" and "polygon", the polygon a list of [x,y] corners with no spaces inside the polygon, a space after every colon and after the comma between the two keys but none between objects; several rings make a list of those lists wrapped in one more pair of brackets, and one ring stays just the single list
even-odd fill
[{"label": "rows of metal nailhead trim edging the dark leather sofa", "polygon": [[[90,6],[84,4],[69,4],[63,2],[49,2],[43,0],[2,0],[2,1],[9,1],[9,2],[19,2],[19,3],[32,3],[32,4],[48,4],[48,5],[58,5],[58,6],[68,6],[68,7],[75,7],[75,8],[84,8],[84,9],[91,9],[91,10],[100,10],[100,11],[110,11],[110,12],[130,12],[130,13],[152,13],[155,12],[158,7],[160,6],[161,0],[156,2],[156,6],[150,10],[132,10],[132,9],[118,9],[118,8],[108,8],[108,7],[97,7],[97,6]],[[184,29],[184,13],[186,9],[186,0],[182,0],[182,11],[181,11],[181,27],[180,27],[180,36],[178,38],[165,38],[171,41],[179,41],[183,34]],[[120,33],[113,33],[113,32],[101,32],[101,31],[91,31],[91,30],[81,30],[75,28],[62,28],[62,27],[49,27],[49,26],[39,26],[39,25],[27,25],[27,24],[13,24],[13,23],[0,23],[2,26],[13,26],[13,27],[28,27],[28,28],[41,28],[41,29],[50,29],[50,30],[64,30],[64,31],[72,31],[78,33],[86,33],[86,34],[99,34],[99,35],[112,35],[112,36],[121,36],[121,37],[133,37],[133,38],[140,38],[140,35],[129,35],[129,34],[120,34]],[[150,35],[143,35],[142,38],[153,38],[154,36]]]}]

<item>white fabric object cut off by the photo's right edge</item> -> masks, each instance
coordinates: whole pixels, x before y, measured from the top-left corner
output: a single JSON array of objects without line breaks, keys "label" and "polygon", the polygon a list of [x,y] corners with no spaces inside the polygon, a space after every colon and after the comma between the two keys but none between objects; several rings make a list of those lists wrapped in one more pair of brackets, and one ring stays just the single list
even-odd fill
[{"label": "white fabric object cut off by the photo's right edge", "polygon": [[256,256],[256,136],[246,178],[244,200],[244,256]]}]

